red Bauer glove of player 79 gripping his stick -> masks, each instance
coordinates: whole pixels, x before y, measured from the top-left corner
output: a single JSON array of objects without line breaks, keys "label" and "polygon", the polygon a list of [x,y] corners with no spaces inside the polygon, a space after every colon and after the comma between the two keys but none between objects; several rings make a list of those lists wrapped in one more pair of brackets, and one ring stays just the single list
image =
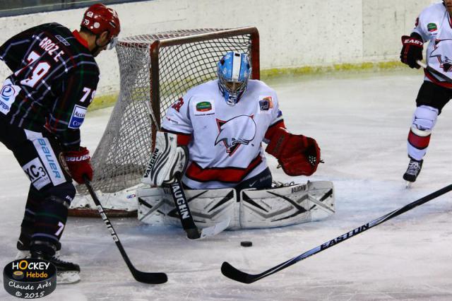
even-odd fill
[{"label": "red Bauer glove of player 79 gripping his stick", "polygon": [[81,147],[79,151],[66,151],[64,158],[66,158],[72,178],[78,184],[85,183],[83,175],[87,175],[90,180],[93,179],[93,167],[90,163],[90,152],[87,148]]}]

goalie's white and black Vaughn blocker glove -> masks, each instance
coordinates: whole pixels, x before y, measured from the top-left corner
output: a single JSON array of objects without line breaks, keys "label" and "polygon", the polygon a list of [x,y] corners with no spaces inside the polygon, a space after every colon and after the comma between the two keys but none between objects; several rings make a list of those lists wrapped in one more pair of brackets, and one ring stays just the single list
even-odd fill
[{"label": "goalie's white and black Vaughn blocker glove", "polygon": [[141,182],[161,187],[172,184],[185,172],[189,152],[185,146],[177,146],[177,135],[157,131],[155,148]]}]

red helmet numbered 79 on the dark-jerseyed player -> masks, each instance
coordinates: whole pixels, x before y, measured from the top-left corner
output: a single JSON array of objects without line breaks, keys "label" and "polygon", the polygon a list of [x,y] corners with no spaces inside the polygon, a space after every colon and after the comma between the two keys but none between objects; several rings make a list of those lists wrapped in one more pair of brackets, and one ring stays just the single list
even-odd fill
[{"label": "red helmet numbered 79 on the dark-jerseyed player", "polygon": [[121,31],[117,12],[104,4],[90,6],[83,15],[81,27],[90,30],[95,35],[100,35],[107,30],[109,39],[117,37]]}]

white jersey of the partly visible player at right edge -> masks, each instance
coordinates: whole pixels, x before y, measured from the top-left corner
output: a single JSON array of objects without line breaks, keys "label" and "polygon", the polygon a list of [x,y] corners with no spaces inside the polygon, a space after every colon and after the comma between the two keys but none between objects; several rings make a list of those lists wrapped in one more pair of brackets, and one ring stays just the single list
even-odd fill
[{"label": "white jersey of the partly visible player at right edge", "polygon": [[[429,66],[452,76],[452,19],[444,4],[432,4],[420,13],[416,20],[416,27],[412,31],[429,42],[426,60]],[[424,70],[425,80],[432,81],[446,88],[452,88],[439,76]]]}]

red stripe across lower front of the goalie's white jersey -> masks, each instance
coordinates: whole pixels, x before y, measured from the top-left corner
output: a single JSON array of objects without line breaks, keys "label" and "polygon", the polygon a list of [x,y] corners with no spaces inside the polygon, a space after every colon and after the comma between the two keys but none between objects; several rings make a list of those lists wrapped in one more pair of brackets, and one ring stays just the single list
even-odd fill
[{"label": "red stripe across lower front of the goalie's white jersey", "polygon": [[239,183],[251,170],[261,164],[261,155],[254,158],[246,168],[239,167],[212,167],[202,168],[196,163],[191,163],[185,175],[198,182],[220,181],[227,183]]}]

